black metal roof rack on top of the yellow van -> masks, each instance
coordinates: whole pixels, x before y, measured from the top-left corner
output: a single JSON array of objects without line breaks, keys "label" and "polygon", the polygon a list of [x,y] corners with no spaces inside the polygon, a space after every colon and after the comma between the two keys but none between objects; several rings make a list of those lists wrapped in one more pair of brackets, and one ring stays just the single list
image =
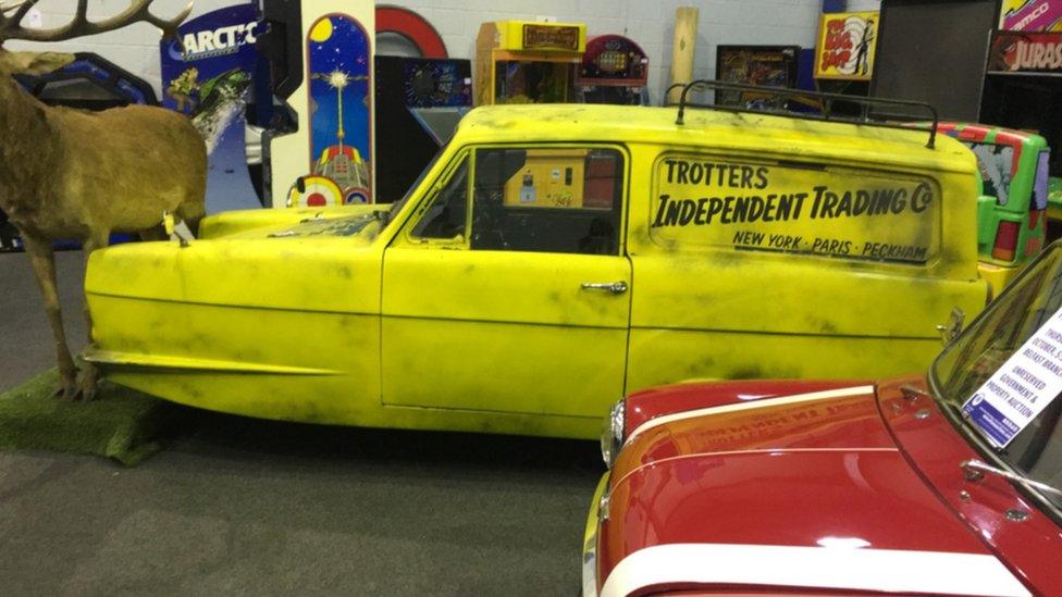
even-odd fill
[{"label": "black metal roof rack on top of the yellow van", "polygon": [[[829,122],[848,122],[854,124],[867,124],[872,126],[884,126],[887,128],[902,128],[910,130],[911,127],[902,124],[902,121],[906,123],[912,122],[925,122],[927,119],[933,121],[929,127],[929,141],[926,147],[933,149],[934,144],[937,139],[937,125],[940,123],[940,116],[937,115],[937,109],[924,101],[911,101],[911,100],[894,100],[885,98],[864,98],[860,96],[845,96],[843,94],[824,94],[822,91],[807,91],[804,89],[789,89],[785,87],[765,87],[762,85],[742,85],[738,83],[725,83],[721,80],[713,79],[697,79],[691,83],[676,83],[667,88],[665,96],[670,94],[671,90],[676,88],[682,88],[682,94],[679,96],[679,115],[675,124],[683,124],[683,115],[686,113],[687,107],[689,108],[706,108],[711,110],[721,110],[725,112],[752,112],[761,114],[773,114],[779,116],[786,116],[791,119],[802,119],[812,121],[829,121]],[[792,112],[789,110],[771,109],[768,107],[763,108],[750,108],[741,105],[720,105],[716,103],[691,103],[687,100],[687,96],[691,90],[701,89],[715,89],[723,91],[749,91],[755,94],[757,98],[775,98],[775,99],[802,99],[811,100],[811,103],[816,103],[822,105],[823,113],[818,114],[805,114],[799,112]],[[849,115],[837,115],[833,114],[835,103],[850,103],[860,107],[859,116]],[[674,103],[668,103],[666,105],[675,105]],[[872,108],[914,108],[925,112],[925,115],[921,117],[912,116],[909,114],[886,114],[886,113],[875,113],[872,117]]]}]

